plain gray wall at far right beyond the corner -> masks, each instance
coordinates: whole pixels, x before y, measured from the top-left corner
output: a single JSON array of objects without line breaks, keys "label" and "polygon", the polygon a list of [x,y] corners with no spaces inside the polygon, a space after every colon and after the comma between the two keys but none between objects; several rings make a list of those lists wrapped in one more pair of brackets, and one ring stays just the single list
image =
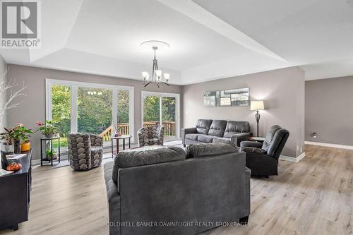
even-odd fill
[{"label": "plain gray wall at far right beyond the corner", "polygon": [[305,97],[305,140],[353,145],[353,76],[306,81]]}]

